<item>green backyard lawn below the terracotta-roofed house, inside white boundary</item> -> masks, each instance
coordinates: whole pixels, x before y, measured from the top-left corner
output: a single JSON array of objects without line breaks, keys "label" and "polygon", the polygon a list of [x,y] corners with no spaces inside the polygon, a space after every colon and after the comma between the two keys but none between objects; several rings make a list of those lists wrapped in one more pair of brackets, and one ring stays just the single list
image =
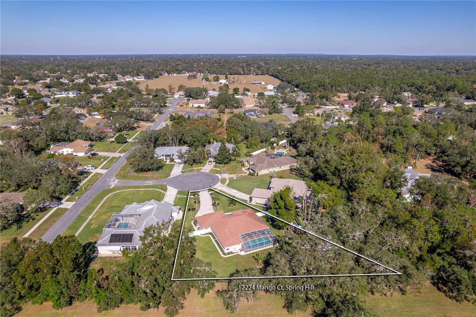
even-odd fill
[{"label": "green backyard lawn below the terracotta-roofed house, inside white boundary", "polygon": [[245,268],[256,267],[256,261],[253,259],[253,255],[259,253],[265,256],[274,250],[274,248],[269,248],[246,255],[237,254],[224,258],[220,255],[210,237],[197,236],[196,238],[197,258],[205,262],[210,262],[212,268],[217,272],[217,277],[229,277],[229,275],[237,269],[243,270]]}]

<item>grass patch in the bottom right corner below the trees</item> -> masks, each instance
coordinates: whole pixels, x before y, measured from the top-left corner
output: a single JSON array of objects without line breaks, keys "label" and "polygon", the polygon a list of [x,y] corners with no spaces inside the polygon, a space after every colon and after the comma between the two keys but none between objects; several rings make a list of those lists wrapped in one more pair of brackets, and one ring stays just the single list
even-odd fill
[{"label": "grass patch in the bottom right corner below the trees", "polygon": [[430,283],[424,284],[421,293],[417,295],[376,295],[365,299],[369,310],[382,317],[476,316],[476,306],[467,302],[459,304]]}]

